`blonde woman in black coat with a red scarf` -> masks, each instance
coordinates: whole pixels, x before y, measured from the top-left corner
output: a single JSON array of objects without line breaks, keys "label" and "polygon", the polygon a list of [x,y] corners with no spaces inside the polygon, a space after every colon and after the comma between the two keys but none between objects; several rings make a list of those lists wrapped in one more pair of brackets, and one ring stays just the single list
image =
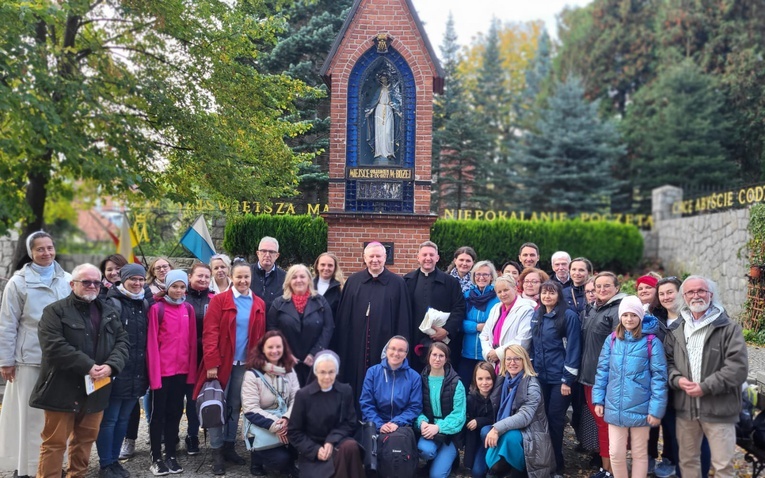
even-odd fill
[{"label": "blonde woman in black coat with a red scarf", "polygon": [[335,322],[329,303],[316,293],[311,273],[303,264],[289,268],[284,295],[274,299],[266,319],[268,330],[280,330],[298,359],[295,373],[304,386],[311,376],[314,357],[329,347]]}]

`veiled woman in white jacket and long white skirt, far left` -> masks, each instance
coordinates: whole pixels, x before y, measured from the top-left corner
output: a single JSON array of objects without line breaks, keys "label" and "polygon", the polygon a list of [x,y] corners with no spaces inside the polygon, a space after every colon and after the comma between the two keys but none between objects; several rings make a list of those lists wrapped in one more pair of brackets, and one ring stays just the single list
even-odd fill
[{"label": "veiled woman in white jacket and long white skirt, far left", "polygon": [[0,411],[0,456],[19,478],[37,474],[42,442],[43,411],[29,406],[42,360],[37,324],[47,305],[72,292],[72,277],[55,261],[47,232],[29,235],[27,254],[32,262],[8,281],[0,305],[0,372],[8,382]]}]

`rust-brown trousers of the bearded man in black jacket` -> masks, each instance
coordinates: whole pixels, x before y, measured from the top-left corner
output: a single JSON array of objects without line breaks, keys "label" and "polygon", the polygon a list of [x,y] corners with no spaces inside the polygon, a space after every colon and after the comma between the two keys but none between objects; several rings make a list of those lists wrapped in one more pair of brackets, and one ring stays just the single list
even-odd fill
[{"label": "rust-brown trousers of the bearded man in black jacket", "polygon": [[69,453],[68,476],[85,476],[102,415],[102,412],[69,413],[45,410],[37,476],[59,478],[64,464],[64,450]]}]

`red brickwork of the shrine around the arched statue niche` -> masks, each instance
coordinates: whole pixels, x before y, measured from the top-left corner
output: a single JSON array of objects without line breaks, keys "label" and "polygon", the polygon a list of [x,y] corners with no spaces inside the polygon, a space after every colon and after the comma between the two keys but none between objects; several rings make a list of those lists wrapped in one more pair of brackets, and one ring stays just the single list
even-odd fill
[{"label": "red brickwork of the shrine around the arched statue niche", "polygon": [[431,180],[435,67],[405,0],[362,1],[327,71],[332,78],[329,176],[340,181],[330,182],[330,213],[324,217],[329,224],[328,249],[338,255],[344,270],[361,269],[364,242],[376,240],[395,243],[396,264],[389,268],[403,273],[416,267],[417,245],[429,239],[435,221],[430,215],[430,184],[415,185],[414,215],[343,213],[348,78],[356,61],[374,46],[378,33],[388,33],[390,46],[406,59],[414,74],[414,175],[417,181]]}]

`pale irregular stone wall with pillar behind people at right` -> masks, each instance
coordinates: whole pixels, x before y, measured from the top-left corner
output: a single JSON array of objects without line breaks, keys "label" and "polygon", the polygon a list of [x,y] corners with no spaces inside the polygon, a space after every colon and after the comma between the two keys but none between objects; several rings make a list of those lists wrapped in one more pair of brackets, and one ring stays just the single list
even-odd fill
[{"label": "pale irregular stone wall with pillar behind people at right", "polygon": [[[675,200],[677,189],[669,191]],[[654,204],[657,199],[665,206],[662,211],[654,209],[654,232],[658,238],[657,258],[666,275],[698,274],[711,278],[717,282],[720,302],[732,317],[738,317],[748,284],[749,264],[741,250],[749,238],[746,229],[749,209],[679,217],[671,213],[674,201],[657,198],[655,194]]]}]

